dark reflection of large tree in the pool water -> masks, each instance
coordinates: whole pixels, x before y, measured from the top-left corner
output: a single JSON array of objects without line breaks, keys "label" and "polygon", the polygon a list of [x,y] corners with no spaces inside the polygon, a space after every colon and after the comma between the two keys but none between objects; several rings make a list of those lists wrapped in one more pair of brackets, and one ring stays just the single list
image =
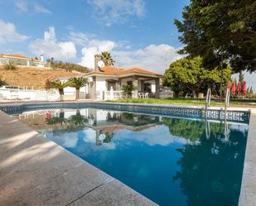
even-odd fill
[{"label": "dark reflection of large tree in the pool water", "polygon": [[181,155],[176,162],[180,170],[172,180],[181,185],[186,205],[236,205],[239,201],[247,132],[229,127],[229,141],[225,141],[225,127],[215,132],[212,126],[209,139],[203,136],[200,144],[176,150]]}]

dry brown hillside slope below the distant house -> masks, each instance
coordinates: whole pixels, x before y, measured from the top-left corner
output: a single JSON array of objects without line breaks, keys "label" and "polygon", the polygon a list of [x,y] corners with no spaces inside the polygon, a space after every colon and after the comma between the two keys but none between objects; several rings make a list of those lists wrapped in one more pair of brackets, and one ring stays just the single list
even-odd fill
[{"label": "dry brown hillside slope below the distant house", "polygon": [[68,72],[61,69],[37,69],[18,67],[17,70],[6,70],[0,65],[0,79],[8,85],[25,86],[33,89],[44,89],[46,79],[58,77],[72,77],[80,75],[79,72]]}]

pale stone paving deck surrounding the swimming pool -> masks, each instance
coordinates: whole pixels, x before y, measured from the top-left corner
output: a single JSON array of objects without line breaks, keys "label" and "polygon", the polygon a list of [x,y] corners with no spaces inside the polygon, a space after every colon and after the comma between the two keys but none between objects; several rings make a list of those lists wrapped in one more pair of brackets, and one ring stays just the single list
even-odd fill
[{"label": "pale stone paving deck surrounding the swimming pool", "polygon": [[[41,103],[0,104],[22,109]],[[44,103],[45,105],[60,103]],[[65,104],[65,103],[61,103]],[[74,103],[73,103],[74,104]],[[95,103],[93,103],[95,106]],[[106,105],[110,105],[107,103]],[[122,104],[113,104],[122,109]],[[141,110],[167,106],[123,104]],[[128,105],[128,106],[127,106]],[[110,107],[110,106],[109,106]],[[116,109],[118,109],[116,108]],[[176,106],[172,111],[182,115]],[[200,107],[186,108],[185,114],[197,117]],[[218,108],[215,109],[218,111]],[[219,109],[220,110],[220,109]],[[234,120],[238,111],[231,109]],[[142,110],[143,111],[143,110]],[[164,113],[170,112],[164,110]],[[247,111],[248,112],[248,111]],[[200,113],[200,112],[199,112]],[[231,117],[232,115],[230,115]],[[232,116],[233,118],[233,116]],[[239,206],[256,205],[256,112],[250,116],[249,137]],[[0,205],[155,205],[133,189],[72,155],[53,141],[31,130],[0,111]]]}]

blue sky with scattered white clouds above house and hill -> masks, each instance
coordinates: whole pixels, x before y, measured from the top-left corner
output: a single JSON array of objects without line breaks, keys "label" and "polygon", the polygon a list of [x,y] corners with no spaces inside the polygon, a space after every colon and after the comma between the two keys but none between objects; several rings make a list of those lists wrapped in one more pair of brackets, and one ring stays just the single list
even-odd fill
[{"label": "blue sky with scattered white clouds above house and hill", "polygon": [[117,66],[164,72],[180,55],[175,18],[188,0],[0,0],[0,53],[44,54],[92,67],[109,50]]}]

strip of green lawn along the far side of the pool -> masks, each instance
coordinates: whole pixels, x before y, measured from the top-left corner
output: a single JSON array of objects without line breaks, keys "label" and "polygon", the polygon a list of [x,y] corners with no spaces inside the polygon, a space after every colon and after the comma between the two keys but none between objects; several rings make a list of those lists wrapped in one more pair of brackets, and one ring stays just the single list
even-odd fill
[{"label": "strip of green lawn along the far side of the pool", "polygon": [[[118,102],[118,103],[156,103],[156,104],[172,104],[172,105],[187,105],[187,106],[205,106],[205,99],[188,99],[188,98],[168,98],[168,99],[158,99],[158,98],[129,98],[129,99],[119,99],[115,101],[108,102]],[[224,107],[225,101],[211,100],[210,106],[214,107]],[[230,107],[234,108],[256,108],[256,100],[254,103],[245,102],[235,102],[230,100]]]}]

